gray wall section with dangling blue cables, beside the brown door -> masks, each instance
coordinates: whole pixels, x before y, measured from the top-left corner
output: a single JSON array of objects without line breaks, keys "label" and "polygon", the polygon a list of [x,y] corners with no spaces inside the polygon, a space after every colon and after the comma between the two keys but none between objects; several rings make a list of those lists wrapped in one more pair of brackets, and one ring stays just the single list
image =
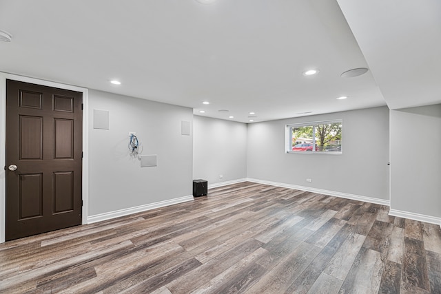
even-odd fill
[{"label": "gray wall section with dangling blue cables, beside the brown door", "polygon": [[[109,111],[110,129],[94,129],[93,109]],[[192,195],[193,138],[181,135],[192,109],[90,90],[89,114],[89,216]],[[130,157],[129,132],[157,167]]]}]

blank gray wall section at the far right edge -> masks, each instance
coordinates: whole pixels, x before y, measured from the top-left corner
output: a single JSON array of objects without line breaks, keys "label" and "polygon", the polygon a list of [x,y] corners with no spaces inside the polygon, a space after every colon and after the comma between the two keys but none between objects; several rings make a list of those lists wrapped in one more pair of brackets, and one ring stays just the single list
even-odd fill
[{"label": "blank gray wall section at the far right edge", "polygon": [[391,209],[441,217],[441,105],[390,112]]}]

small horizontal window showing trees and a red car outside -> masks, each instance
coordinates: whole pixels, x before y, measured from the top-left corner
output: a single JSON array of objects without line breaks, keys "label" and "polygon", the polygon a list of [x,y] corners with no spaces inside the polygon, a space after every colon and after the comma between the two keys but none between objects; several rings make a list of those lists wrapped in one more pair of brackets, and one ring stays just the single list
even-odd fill
[{"label": "small horizontal window showing trees and a red car outside", "polygon": [[287,125],[287,153],[341,154],[342,120]]}]

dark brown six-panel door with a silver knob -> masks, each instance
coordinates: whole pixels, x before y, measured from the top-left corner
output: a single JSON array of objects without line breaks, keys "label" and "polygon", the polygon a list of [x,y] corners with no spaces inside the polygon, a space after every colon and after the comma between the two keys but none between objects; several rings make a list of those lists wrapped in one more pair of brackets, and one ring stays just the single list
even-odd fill
[{"label": "dark brown six-panel door with a silver knob", "polygon": [[6,240],[81,224],[82,101],[6,81]]}]

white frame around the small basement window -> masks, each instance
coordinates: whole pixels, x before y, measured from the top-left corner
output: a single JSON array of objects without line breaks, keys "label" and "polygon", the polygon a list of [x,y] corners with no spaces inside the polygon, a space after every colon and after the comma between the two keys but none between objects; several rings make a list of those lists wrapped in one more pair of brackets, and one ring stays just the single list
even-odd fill
[{"label": "white frame around the small basement window", "polygon": [[[340,151],[316,151],[316,148],[312,148],[312,152],[303,152],[303,151],[292,151],[292,129],[297,127],[313,127],[312,132],[312,143],[316,144],[316,126],[329,124],[329,123],[340,123],[342,125],[342,134],[341,134],[341,148]],[[313,145],[314,146],[314,145]],[[343,120],[335,119],[335,120],[320,120],[313,121],[307,123],[294,123],[285,126],[285,153],[287,154],[343,154]]]}]

